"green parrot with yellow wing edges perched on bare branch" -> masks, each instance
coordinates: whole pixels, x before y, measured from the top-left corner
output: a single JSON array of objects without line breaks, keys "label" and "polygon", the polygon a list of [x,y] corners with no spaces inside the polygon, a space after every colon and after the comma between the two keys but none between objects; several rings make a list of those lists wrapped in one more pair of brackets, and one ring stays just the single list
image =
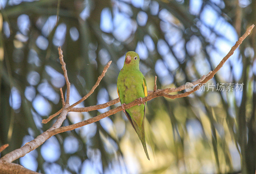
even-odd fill
[{"label": "green parrot with yellow wing edges perched on bare branch", "polygon": [[[117,78],[117,94],[124,109],[125,103],[130,103],[139,98],[141,104],[123,110],[132,127],[138,134],[144,151],[148,156],[148,150],[144,132],[144,118],[146,103],[142,97],[148,96],[147,83],[139,68],[140,57],[138,53],[129,51],[125,55],[124,66]],[[143,103],[143,104],[142,104]]]}]

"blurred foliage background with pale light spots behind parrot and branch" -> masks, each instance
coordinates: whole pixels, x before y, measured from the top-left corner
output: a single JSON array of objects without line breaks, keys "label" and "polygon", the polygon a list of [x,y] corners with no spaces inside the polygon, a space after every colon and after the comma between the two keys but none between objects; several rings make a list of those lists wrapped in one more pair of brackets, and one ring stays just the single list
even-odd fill
[{"label": "blurred foliage background with pale light spots behind parrot and branch", "polygon": [[[213,70],[246,28],[256,23],[255,0],[0,0],[1,156],[51,127],[41,120],[61,108],[66,91],[57,47],[78,107],[117,98],[127,51],[153,89],[178,87]],[[150,161],[123,112],[60,133],[16,160],[46,174],[255,173],[256,60],[252,31],[208,83],[244,83],[242,91],[198,91],[148,102],[145,130]],[[207,84],[206,84],[207,86]],[[70,112],[73,124],[119,106]]]}]

